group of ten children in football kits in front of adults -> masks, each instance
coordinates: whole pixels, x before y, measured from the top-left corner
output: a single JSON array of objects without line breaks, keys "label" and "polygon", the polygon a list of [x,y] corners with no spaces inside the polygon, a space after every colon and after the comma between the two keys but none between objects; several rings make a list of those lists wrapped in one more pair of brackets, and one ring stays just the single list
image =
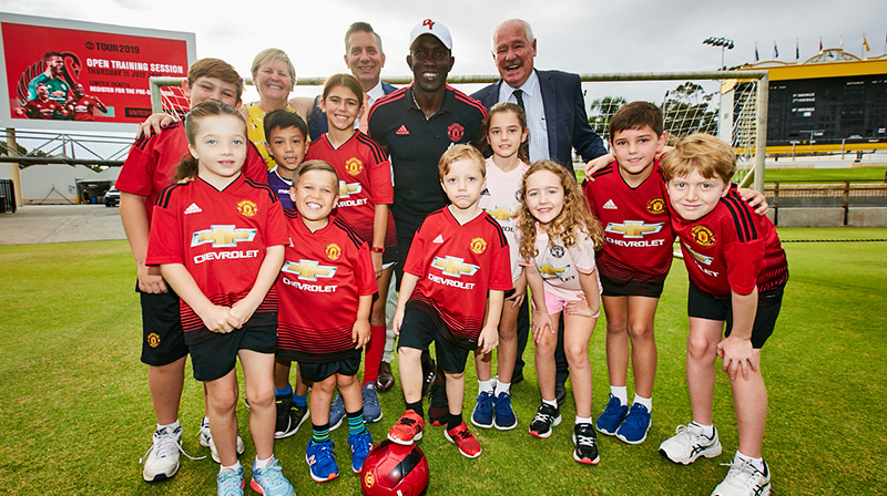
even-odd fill
[{"label": "group of ten children in football kits in front of adults", "polygon": [[[355,128],[363,111],[359,82],[336,74],[322,95],[329,131],[310,144],[295,113],[263,115],[267,152],[277,164],[267,173],[234,110],[242,82],[230,71],[222,61],[197,61],[185,85],[192,111],[184,123],[136,142],[118,183],[129,197],[121,215],[139,264],[143,361],[151,365],[157,413],[143,476],[160,480],[179,468],[179,399],[174,410],[169,400],[181,396],[191,354],[206,395],[202,440],[222,465],[218,494],[243,494],[235,416],[239,359],[256,448],[251,485],[262,494],[292,495],[273,455],[275,438],[292,435],[310,416],[310,476],[330,480],[339,469],[329,431],[347,420],[357,473],[373,446],[366,422],[381,418],[373,383],[385,343],[384,293],[394,260],[387,249],[396,245],[388,211],[390,164]],[[769,471],[761,458],[766,415],[761,347],[773,331],[787,268],[772,223],[731,187],[733,151],[693,135],[660,161],[662,115],[652,104],[632,103],[610,125],[614,162],[591,175],[583,195],[559,164],[526,163],[521,107],[493,106],[483,137],[492,153],[487,159],[469,145],[452,146],[440,157],[440,185],[450,203],[426,217],[404,266],[394,328],[406,411],[388,438],[411,444],[422,437],[421,354],[431,343],[446,376],[445,436],[461,454],[481,454],[462,420],[470,351],[479,380],[472,424],[517,426],[510,382],[518,308],[529,286],[542,396],[530,434],[549,437],[561,422],[554,348],[562,319],[577,412],[573,458],[600,461],[595,430],[630,444],[643,442],[656,366],[653,320],[676,236],[691,278],[693,422],[660,451],[682,464],[721,453],[712,425],[720,355],[734,390],[740,451],[714,494],[768,494]],[[255,170],[258,163],[262,174]],[[611,392],[603,413],[592,420],[588,350],[601,304]],[[629,359],[635,379],[631,404]],[[310,413],[304,393],[294,396],[288,382],[292,361],[299,364],[302,390],[310,384]],[[155,390],[156,381],[171,379],[172,389]],[[330,410],[337,409],[344,414],[334,422]]]}]

